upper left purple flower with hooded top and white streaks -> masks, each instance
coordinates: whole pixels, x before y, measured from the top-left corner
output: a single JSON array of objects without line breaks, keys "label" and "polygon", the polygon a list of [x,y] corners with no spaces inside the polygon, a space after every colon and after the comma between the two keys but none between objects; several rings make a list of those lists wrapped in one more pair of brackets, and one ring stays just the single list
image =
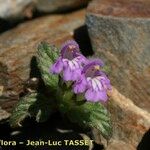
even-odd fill
[{"label": "upper left purple flower with hooded top and white streaks", "polygon": [[81,68],[87,59],[80,53],[79,45],[69,40],[61,47],[61,56],[51,67],[53,74],[63,72],[65,81],[75,81],[81,75]]}]

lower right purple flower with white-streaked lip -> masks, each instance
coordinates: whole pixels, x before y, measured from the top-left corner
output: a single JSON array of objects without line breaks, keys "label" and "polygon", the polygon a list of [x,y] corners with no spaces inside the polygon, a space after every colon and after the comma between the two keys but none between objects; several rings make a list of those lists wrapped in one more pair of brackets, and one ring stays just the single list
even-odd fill
[{"label": "lower right purple flower with white-streaked lip", "polygon": [[100,71],[100,67],[104,64],[101,60],[89,61],[81,72],[81,77],[74,84],[74,92],[85,93],[87,101],[106,102],[107,91],[111,90],[110,80],[104,72]]}]

